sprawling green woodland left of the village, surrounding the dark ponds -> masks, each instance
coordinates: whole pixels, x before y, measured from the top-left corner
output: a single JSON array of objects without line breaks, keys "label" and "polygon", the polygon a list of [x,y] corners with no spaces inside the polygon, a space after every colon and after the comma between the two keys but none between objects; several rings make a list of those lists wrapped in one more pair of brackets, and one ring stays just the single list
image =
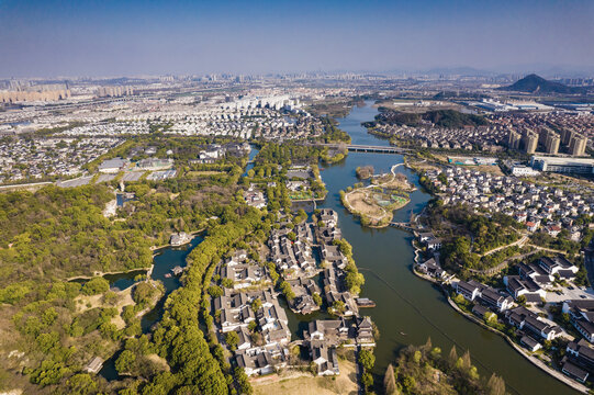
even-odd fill
[{"label": "sprawling green woodland left of the village, surrounding the dark ponds", "polygon": [[[198,326],[211,263],[232,240],[262,226],[261,214],[236,193],[240,165],[224,159],[201,165],[204,176],[180,167],[176,179],[126,183],[134,199],[110,218],[102,212],[115,199],[117,179],[111,185],[0,194],[0,354],[7,361],[0,366],[0,390],[224,394],[235,393],[237,385],[249,391],[245,374],[223,364],[220,349],[211,337],[206,342]],[[152,246],[167,242],[172,232],[200,228],[205,228],[205,240],[190,258],[186,286],[167,300],[155,334],[143,334],[141,314],[161,297],[160,283],[141,278],[131,289],[114,292],[101,276],[66,281],[147,268]],[[107,382],[85,371],[92,358],[107,360],[114,353],[121,380]],[[165,386],[172,390],[164,392]]]}]

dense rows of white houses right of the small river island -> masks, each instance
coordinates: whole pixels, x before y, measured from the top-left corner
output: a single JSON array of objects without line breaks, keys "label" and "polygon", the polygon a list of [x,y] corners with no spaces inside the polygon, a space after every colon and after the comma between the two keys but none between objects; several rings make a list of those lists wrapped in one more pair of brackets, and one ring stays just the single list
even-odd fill
[{"label": "dense rows of white houses right of the small river island", "polygon": [[[446,168],[426,173],[429,182],[444,195],[444,203],[467,204],[479,211],[503,213],[526,224],[529,232],[542,229],[557,237],[567,229],[572,240],[579,241],[582,227],[575,224],[580,215],[592,215],[591,195],[568,193],[559,188],[537,185],[516,177],[493,176],[461,167]],[[543,225],[546,223],[546,225]]]}]

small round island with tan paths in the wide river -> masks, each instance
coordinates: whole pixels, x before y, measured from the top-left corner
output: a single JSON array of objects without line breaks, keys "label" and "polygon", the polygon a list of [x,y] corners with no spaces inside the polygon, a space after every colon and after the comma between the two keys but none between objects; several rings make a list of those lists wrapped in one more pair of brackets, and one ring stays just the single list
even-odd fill
[{"label": "small round island with tan paths in the wide river", "polygon": [[[361,179],[370,178],[370,183],[362,182],[340,191],[343,205],[351,213],[361,218],[361,224],[369,227],[385,227],[390,225],[393,211],[404,207],[411,199],[408,192],[415,190],[406,176],[396,173],[394,165],[389,173],[368,176],[369,167],[358,168],[357,174]],[[372,169],[372,168],[371,168]]]}]

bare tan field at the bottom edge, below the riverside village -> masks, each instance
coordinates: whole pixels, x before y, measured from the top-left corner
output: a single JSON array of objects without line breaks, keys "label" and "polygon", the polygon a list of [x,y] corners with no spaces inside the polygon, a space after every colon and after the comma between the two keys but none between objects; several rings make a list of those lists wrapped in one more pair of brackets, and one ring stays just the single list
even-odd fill
[{"label": "bare tan field at the bottom edge, below the riverside village", "polygon": [[289,374],[281,376],[265,376],[251,381],[256,395],[282,394],[282,395],[330,395],[330,394],[357,394],[357,374],[355,363],[347,360],[338,360],[340,374],[336,377],[314,377],[301,375],[290,379]]}]

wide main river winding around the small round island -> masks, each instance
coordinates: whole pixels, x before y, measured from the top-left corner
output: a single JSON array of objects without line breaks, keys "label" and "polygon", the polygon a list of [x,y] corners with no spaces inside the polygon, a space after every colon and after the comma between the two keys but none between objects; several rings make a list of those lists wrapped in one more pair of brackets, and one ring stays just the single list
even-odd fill
[{"label": "wide main river winding around the small round island", "polygon": [[[377,110],[367,102],[365,108],[354,108],[348,116],[339,119],[339,127],[347,132],[352,144],[389,145],[385,139],[367,133],[361,122],[372,121]],[[469,321],[453,311],[441,292],[432,283],[412,272],[414,250],[412,235],[395,228],[369,229],[360,226],[340,204],[339,191],[358,182],[355,169],[372,165],[376,172],[386,172],[402,156],[389,154],[349,153],[346,160],[322,170],[328,195],[318,207],[338,212],[343,236],[352,245],[354,258],[366,276],[363,297],[377,307],[361,309],[378,325],[376,372],[383,374],[394,362],[399,351],[410,345],[423,345],[428,337],[433,345],[449,352],[456,345],[458,354],[469,349],[480,373],[502,375],[507,391],[515,394],[576,394],[565,384],[533,365],[516,352],[502,337]],[[404,167],[397,168],[414,182],[418,190],[411,193],[411,203],[397,211],[395,221],[407,221],[411,210],[418,213],[430,200],[418,185],[418,177]]]}]

